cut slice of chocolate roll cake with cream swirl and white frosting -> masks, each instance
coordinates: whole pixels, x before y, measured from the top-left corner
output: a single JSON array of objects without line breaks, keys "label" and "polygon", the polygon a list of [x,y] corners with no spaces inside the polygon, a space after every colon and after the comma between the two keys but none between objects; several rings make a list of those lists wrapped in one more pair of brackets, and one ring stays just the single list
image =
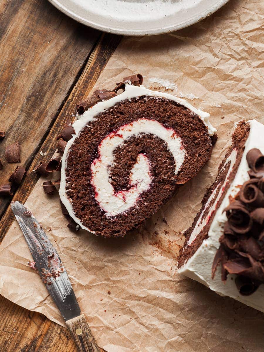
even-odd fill
[{"label": "cut slice of chocolate roll cake with cream swirl and white frosting", "polygon": [[[61,201],[83,229],[124,236],[208,161],[209,114],[144,86],[90,107],[74,122],[62,158]],[[112,96],[112,95],[111,95]],[[94,99],[94,98],[93,98]]]}]

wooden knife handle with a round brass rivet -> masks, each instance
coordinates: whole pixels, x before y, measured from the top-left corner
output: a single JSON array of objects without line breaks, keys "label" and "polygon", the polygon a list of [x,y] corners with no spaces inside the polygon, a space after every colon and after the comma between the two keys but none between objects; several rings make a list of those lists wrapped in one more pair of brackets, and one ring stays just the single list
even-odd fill
[{"label": "wooden knife handle with a round brass rivet", "polygon": [[83,314],[66,321],[80,352],[101,352]]}]

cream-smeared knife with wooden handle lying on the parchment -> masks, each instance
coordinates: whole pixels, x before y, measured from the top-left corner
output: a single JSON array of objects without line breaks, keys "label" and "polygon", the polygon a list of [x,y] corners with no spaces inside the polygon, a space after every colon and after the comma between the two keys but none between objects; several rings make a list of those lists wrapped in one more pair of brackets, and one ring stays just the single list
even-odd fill
[{"label": "cream-smeared knife with wooden handle lying on the parchment", "polygon": [[18,201],[11,209],[25,236],[36,269],[68,326],[80,352],[101,352],[86,322],[71,287],[67,272],[33,214]]}]

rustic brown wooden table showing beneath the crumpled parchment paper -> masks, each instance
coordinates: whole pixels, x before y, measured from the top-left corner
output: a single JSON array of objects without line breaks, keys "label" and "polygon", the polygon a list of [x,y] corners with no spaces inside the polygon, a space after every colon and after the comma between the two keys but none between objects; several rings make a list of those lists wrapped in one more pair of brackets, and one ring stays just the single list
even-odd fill
[{"label": "rustic brown wooden table showing beneath the crumpled parchment paper", "polygon": [[[21,144],[28,171],[12,197],[0,198],[0,240],[14,217],[11,200],[25,202],[38,180],[31,172],[54,153],[55,137],[76,102],[93,89],[121,37],[85,27],[47,0],[0,1],[0,184],[17,164],[5,161],[5,146]],[[40,151],[45,150],[46,156]],[[0,296],[0,351],[77,351],[67,329]]]}]

